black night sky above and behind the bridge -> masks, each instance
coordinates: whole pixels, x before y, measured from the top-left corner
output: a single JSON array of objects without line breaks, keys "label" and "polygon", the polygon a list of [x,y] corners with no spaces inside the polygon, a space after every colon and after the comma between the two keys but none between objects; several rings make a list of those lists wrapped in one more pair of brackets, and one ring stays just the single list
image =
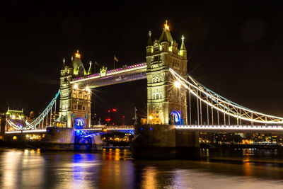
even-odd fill
[{"label": "black night sky above and behind the bridge", "polygon": [[[85,67],[91,60],[111,68],[113,55],[120,66],[145,62],[147,33],[159,38],[168,19],[173,39],[180,44],[185,35],[195,79],[231,101],[283,116],[283,7],[275,1],[7,0],[0,6],[1,110],[45,108],[59,89],[62,59],[69,63],[76,50]],[[97,112],[146,110],[146,81],[97,90]]]}]

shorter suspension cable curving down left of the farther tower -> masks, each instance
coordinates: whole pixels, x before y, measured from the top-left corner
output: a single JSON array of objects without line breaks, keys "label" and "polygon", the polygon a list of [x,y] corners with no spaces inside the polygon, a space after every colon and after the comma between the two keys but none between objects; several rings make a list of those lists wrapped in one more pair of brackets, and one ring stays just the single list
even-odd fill
[{"label": "shorter suspension cable curving down left of the farther tower", "polygon": [[[45,108],[45,110],[43,110],[43,112],[31,123],[28,123],[27,121],[25,121],[25,127],[21,127],[17,124],[15,124],[14,122],[12,122],[11,120],[7,120],[8,125],[10,125],[11,127],[13,127],[14,130],[32,130],[33,128],[40,126],[40,122],[42,122],[42,127],[43,127],[43,122],[45,117],[47,118],[48,113],[50,113],[50,124],[51,124],[51,111],[52,111],[52,107],[54,104],[56,104],[57,98],[60,94],[60,90],[56,93],[56,95],[54,96],[54,98],[52,99],[52,101],[50,102],[49,105],[47,105],[47,108]],[[55,106],[56,107],[56,106]],[[56,110],[55,110],[56,112]],[[47,124],[47,120],[46,120],[46,124]]]}]

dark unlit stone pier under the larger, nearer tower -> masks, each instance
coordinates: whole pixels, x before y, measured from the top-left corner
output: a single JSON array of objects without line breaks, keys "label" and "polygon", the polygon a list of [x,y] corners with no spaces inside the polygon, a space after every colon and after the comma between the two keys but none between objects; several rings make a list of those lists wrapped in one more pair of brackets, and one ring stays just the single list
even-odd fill
[{"label": "dark unlit stone pier under the larger, nearer tower", "polygon": [[200,159],[197,132],[175,130],[175,125],[135,125],[134,159]]}]

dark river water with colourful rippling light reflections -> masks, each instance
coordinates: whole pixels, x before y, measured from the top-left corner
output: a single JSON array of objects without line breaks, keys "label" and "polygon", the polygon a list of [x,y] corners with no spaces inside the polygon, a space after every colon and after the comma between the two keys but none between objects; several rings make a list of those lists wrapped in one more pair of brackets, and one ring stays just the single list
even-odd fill
[{"label": "dark river water with colourful rippling light reflections", "polygon": [[130,151],[0,149],[0,188],[283,188],[277,150],[201,150],[201,161],[142,161]]}]

